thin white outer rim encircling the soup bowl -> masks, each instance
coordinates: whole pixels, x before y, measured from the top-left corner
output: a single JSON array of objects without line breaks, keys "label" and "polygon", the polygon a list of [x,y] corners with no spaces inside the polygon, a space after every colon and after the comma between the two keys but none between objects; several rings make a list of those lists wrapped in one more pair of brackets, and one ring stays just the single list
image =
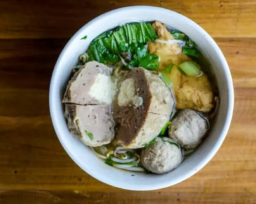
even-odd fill
[{"label": "thin white outer rim encircling the soup bowl", "polygon": [[[56,69],[58,67],[58,64],[60,63],[60,60],[64,57],[64,53],[67,50],[67,48],[69,47],[69,45],[72,44],[72,42],[74,41],[75,38],[77,38],[78,35],[80,35],[80,33],[87,28],[88,26],[92,25],[93,23],[95,23],[96,21],[101,20],[102,18],[108,18],[109,15],[112,15],[114,13],[119,13],[122,11],[126,11],[126,10],[130,10],[132,11],[133,9],[151,9],[152,12],[169,12],[172,14],[175,14],[177,16],[179,16],[179,18],[189,21],[189,23],[192,24],[193,27],[195,27],[195,29],[198,32],[201,32],[205,35],[206,38],[208,38],[208,40],[210,40],[212,49],[215,50],[216,55],[218,55],[218,58],[222,61],[223,63],[223,69],[225,72],[225,78],[228,82],[227,86],[228,86],[228,110],[227,110],[227,117],[225,118],[225,123],[223,125],[223,129],[218,137],[218,143],[216,143],[214,146],[212,146],[212,149],[210,149],[209,154],[207,155],[207,157],[200,161],[197,164],[197,169],[196,171],[194,170],[188,170],[186,174],[183,175],[182,179],[180,180],[175,180],[175,181],[165,181],[164,183],[160,183],[160,184],[154,184],[154,186],[143,186],[143,187],[137,187],[136,185],[132,184],[132,185],[126,185],[121,186],[119,185],[119,183],[117,184],[115,181],[112,181],[109,178],[106,177],[102,177],[100,176],[97,172],[95,171],[90,171],[90,169],[84,169],[82,168],[82,164],[80,163],[79,159],[76,158],[75,154],[73,154],[72,151],[69,151],[69,148],[67,147],[66,143],[64,142],[62,135],[62,131],[61,128],[58,125],[58,119],[55,117],[55,113],[56,110],[54,108],[54,97],[56,97],[56,93],[54,92],[55,86],[56,86],[56,81],[55,76],[56,76]],[[203,29],[200,27],[200,25],[198,25],[197,23],[195,23],[193,20],[185,17],[182,14],[179,14],[175,11],[169,10],[169,9],[165,9],[165,8],[160,8],[160,7],[155,7],[155,6],[146,6],[146,5],[138,5],[138,6],[128,6],[128,7],[123,7],[123,8],[118,8],[115,10],[111,10],[108,11],[107,13],[103,13],[99,16],[97,16],[96,18],[90,20],[88,23],[86,23],[84,26],[82,26],[82,28],[80,28],[73,36],[72,38],[69,39],[68,43],[65,45],[65,47],[63,48],[63,50],[61,51],[58,60],[56,61],[56,64],[54,66],[54,70],[51,76],[51,82],[50,82],[50,89],[49,89],[49,108],[50,108],[50,115],[51,115],[51,120],[54,126],[54,130],[56,132],[56,135],[62,145],[62,147],[64,148],[64,150],[67,152],[67,154],[71,157],[71,159],[81,168],[83,169],[87,174],[89,174],[90,176],[94,177],[95,179],[108,184],[110,186],[115,186],[121,189],[128,189],[128,190],[136,190],[136,191],[146,191],[146,190],[156,190],[156,189],[162,189],[168,186],[172,186],[175,185],[179,182],[182,182],[186,179],[188,179],[189,177],[191,177],[192,175],[196,174],[198,171],[200,171],[212,158],[213,156],[217,153],[218,149],[220,149],[220,146],[223,144],[223,141],[228,133],[228,129],[230,127],[230,123],[232,120],[232,115],[233,115],[233,107],[234,107],[234,89],[233,89],[233,81],[232,81],[232,77],[231,77],[231,73],[230,73],[230,69],[228,67],[228,63],[222,53],[222,51],[220,50],[220,48],[218,47],[217,43],[215,43],[215,41],[212,39],[212,37]]]}]

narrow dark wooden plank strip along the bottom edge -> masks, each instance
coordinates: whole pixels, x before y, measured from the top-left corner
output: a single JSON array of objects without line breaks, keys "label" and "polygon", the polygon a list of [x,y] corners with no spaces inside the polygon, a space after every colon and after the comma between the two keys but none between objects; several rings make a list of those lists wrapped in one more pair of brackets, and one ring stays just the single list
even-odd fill
[{"label": "narrow dark wooden plank strip along the bottom edge", "polygon": [[[250,192],[88,192],[88,191],[2,191],[1,204],[254,204],[255,196]],[[221,201],[220,201],[221,199]]]}]

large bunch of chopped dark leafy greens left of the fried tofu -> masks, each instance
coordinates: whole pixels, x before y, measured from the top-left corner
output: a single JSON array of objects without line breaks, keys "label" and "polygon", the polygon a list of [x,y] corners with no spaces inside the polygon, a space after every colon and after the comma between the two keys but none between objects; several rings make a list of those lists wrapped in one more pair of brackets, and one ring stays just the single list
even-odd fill
[{"label": "large bunch of chopped dark leafy greens left of the fried tofu", "polygon": [[128,66],[158,68],[158,56],[149,54],[146,47],[147,42],[156,39],[151,23],[129,23],[97,36],[87,50],[87,61],[115,63],[120,60],[121,53],[131,53],[131,58],[125,58]]}]

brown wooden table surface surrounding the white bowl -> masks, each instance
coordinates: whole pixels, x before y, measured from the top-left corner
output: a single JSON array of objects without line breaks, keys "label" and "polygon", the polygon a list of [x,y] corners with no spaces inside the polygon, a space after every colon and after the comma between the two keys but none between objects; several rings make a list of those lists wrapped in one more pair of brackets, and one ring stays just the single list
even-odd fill
[{"label": "brown wooden table surface surrounding the white bowl", "polygon": [[[256,203],[255,0],[1,0],[0,204]],[[233,121],[205,168],[159,191],[117,189],[69,158],[49,116],[51,72],[68,39],[90,19],[128,5],[172,9],[201,25],[230,65]]]}]

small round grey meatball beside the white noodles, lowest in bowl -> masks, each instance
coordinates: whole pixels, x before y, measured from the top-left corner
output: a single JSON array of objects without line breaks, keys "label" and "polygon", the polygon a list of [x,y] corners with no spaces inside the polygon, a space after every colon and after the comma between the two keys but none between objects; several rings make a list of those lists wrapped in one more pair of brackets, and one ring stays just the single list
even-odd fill
[{"label": "small round grey meatball beside the white noodles, lowest in bowl", "polygon": [[141,151],[142,166],[156,174],[175,169],[182,162],[180,146],[168,137],[156,138],[156,142]]}]

